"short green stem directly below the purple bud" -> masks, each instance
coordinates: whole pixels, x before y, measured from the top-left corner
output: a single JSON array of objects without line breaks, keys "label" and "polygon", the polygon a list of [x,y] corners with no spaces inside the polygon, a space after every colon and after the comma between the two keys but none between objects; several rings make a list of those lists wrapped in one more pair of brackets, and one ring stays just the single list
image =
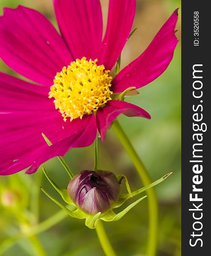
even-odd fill
[{"label": "short green stem directly below the purple bud", "polygon": [[114,252],[114,249],[112,248],[110,241],[108,240],[102,221],[99,220],[97,222],[97,227],[95,228],[95,230],[97,232],[98,239],[100,241],[101,247],[103,248],[105,255],[116,256],[116,253]]}]

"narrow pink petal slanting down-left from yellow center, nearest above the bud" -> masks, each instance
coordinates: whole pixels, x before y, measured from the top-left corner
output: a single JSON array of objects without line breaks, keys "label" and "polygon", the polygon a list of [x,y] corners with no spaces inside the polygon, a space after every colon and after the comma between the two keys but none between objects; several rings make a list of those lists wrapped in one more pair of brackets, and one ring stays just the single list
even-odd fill
[{"label": "narrow pink petal slanting down-left from yellow center, nearest above the bud", "polygon": [[68,138],[65,138],[60,142],[46,148],[42,155],[40,155],[37,160],[34,161],[33,165],[26,171],[26,173],[31,174],[36,172],[42,163],[46,162],[52,157],[64,156],[71,148],[86,147],[93,143],[97,134],[97,124],[94,113],[92,115],[83,117],[83,119],[80,121],[81,122],[77,131],[74,131],[74,133]]}]

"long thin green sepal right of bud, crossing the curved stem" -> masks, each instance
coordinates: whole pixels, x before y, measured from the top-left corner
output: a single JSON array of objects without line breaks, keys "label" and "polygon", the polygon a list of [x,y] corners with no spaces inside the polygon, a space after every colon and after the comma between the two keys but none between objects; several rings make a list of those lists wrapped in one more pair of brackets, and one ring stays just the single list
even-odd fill
[{"label": "long thin green sepal right of bud, crossing the curved stem", "polygon": [[[141,189],[138,189],[138,190],[132,192],[132,196],[139,195],[140,193],[144,192],[145,190],[150,189],[153,186],[156,186],[157,184],[161,183],[163,180],[167,179],[172,173],[173,172],[169,172],[166,175],[164,175],[162,178],[154,181],[153,183],[149,184],[148,186],[145,186]],[[130,197],[131,196],[129,194],[120,195],[119,200],[115,204],[114,208],[117,208],[117,207],[120,207],[121,205],[123,205],[125,203],[125,201],[127,201]]]}]

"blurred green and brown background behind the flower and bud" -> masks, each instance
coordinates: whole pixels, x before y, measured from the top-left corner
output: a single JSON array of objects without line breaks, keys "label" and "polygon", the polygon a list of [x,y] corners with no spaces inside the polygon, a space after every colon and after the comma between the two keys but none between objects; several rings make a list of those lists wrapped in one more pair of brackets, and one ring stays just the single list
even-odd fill
[{"label": "blurred green and brown background behind the flower and bud", "polygon": [[[108,0],[101,0],[101,3],[104,23],[106,23]],[[16,7],[18,4],[39,10],[57,26],[51,0],[1,0],[0,15],[2,15],[4,6]],[[137,0],[134,21],[134,28],[137,28],[137,31],[123,50],[122,67],[143,52],[165,20],[180,5],[180,0]],[[179,17],[181,17],[180,11]],[[177,37],[180,39],[181,18],[176,28],[179,30]],[[152,180],[157,180],[168,172],[174,172],[171,177],[156,186],[159,199],[158,256],[181,255],[180,61],[181,45],[179,42],[174,58],[165,73],[151,84],[141,88],[140,95],[127,98],[127,101],[147,110],[151,114],[151,120],[125,116],[119,118]],[[14,75],[14,72],[3,62],[0,62],[0,71]],[[66,154],[65,159],[74,174],[83,169],[92,169],[93,145],[88,148],[72,149]],[[60,186],[67,187],[68,175],[57,159],[49,160],[44,166]],[[107,133],[106,142],[100,143],[100,166],[115,174],[126,175],[132,190],[142,186],[134,166],[112,130]],[[31,226],[36,227],[37,223],[53,216],[55,222],[58,223],[38,234],[47,255],[103,256],[95,231],[89,230],[84,225],[84,221],[65,218],[65,214],[60,211],[59,207],[46,195],[40,193],[40,186],[60,200],[46,178],[43,177],[41,169],[33,175],[25,175],[21,172],[9,177],[0,177],[0,255],[37,255],[31,243],[35,238],[33,236],[26,238],[24,233]],[[128,204],[132,201],[134,199],[131,199]],[[58,211],[58,215],[54,217]],[[44,222],[44,224],[48,223]],[[134,207],[120,221],[106,223],[105,226],[118,255],[145,255],[148,232],[147,200]]]}]

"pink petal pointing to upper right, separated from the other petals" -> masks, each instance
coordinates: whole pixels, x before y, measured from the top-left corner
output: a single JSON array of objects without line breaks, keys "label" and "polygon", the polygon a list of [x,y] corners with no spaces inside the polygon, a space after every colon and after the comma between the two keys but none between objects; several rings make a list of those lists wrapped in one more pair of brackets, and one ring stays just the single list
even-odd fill
[{"label": "pink petal pointing to upper right, separated from the other petals", "polygon": [[131,86],[143,87],[166,70],[178,42],[174,34],[177,11],[178,9],[165,22],[147,49],[114,78],[112,82],[114,93],[123,92]]}]

